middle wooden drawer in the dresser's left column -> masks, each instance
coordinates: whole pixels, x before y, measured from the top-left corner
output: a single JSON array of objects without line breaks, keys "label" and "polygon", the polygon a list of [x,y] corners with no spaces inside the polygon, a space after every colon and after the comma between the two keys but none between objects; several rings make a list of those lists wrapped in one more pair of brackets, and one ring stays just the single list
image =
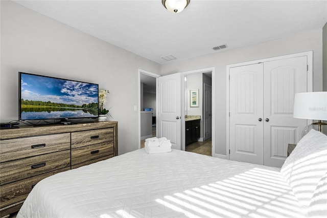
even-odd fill
[{"label": "middle wooden drawer in the dresser's left column", "polygon": [[0,185],[71,165],[71,151],[64,150],[0,164]]}]

